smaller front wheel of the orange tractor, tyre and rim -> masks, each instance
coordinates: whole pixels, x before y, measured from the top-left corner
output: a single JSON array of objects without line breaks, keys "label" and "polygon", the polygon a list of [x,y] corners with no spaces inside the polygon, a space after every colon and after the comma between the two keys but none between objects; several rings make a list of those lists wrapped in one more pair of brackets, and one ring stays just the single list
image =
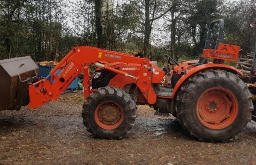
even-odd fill
[{"label": "smaller front wheel of the orange tractor, tyre and rim", "polygon": [[122,139],[136,122],[137,108],[128,93],[107,86],[86,99],[82,117],[87,131],[94,137]]}]

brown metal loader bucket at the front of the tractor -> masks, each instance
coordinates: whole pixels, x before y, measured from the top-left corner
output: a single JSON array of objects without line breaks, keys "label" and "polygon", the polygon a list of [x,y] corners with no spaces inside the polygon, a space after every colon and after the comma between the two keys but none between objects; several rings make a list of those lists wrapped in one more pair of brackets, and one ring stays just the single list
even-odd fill
[{"label": "brown metal loader bucket at the front of the tractor", "polygon": [[0,110],[28,105],[28,86],[38,71],[30,56],[0,60]]}]

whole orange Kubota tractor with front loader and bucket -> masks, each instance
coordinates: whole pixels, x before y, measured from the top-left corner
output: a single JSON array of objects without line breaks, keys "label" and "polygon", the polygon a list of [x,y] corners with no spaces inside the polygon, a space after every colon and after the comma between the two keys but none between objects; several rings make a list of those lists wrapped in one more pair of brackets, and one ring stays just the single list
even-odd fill
[{"label": "whole orange Kubota tractor with front loader and bucket", "polygon": [[[212,48],[215,24],[220,28]],[[82,118],[94,137],[122,139],[136,122],[136,105],[149,105],[171,113],[199,140],[225,142],[245,130],[252,117],[255,121],[251,93],[256,93],[256,79],[224,64],[237,61],[240,47],[222,43],[223,30],[222,19],[213,21],[201,59],[169,57],[173,67],[167,73],[147,58],[89,46],[73,48],[45,78],[37,76],[29,56],[1,60],[0,110],[57,100],[84,72]],[[92,67],[97,69],[91,75]]]}]

